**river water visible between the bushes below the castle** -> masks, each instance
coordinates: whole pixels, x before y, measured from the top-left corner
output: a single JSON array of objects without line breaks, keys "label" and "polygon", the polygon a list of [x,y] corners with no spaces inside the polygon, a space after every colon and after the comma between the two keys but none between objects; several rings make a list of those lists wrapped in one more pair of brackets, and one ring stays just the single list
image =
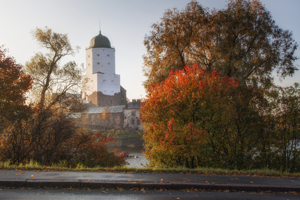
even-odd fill
[{"label": "river water visible between the bushes below the castle", "polygon": [[[113,151],[115,148],[121,149],[119,153],[122,151],[129,152],[129,156],[138,156],[138,158],[125,158],[126,162],[129,163],[128,167],[143,167],[146,165],[147,159],[142,153],[145,149],[143,147],[107,147],[108,151]],[[141,164],[142,163],[142,164]]]}]

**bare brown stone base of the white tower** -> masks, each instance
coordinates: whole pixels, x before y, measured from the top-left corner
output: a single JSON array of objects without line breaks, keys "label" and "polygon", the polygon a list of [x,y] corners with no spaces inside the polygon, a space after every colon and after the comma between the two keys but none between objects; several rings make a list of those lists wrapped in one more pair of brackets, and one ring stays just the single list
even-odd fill
[{"label": "bare brown stone base of the white tower", "polygon": [[121,105],[121,97],[120,92],[115,93],[114,95],[103,94],[101,91],[94,91],[90,95],[85,96],[86,100],[88,100],[88,107],[104,107],[104,106],[120,106]]}]

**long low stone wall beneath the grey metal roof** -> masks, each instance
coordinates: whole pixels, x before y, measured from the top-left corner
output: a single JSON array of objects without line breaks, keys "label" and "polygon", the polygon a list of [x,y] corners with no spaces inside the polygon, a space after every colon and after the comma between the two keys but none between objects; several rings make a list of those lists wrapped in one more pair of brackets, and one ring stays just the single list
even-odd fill
[{"label": "long low stone wall beneath the grey metal roof", "polygon": [[[87,124],[89,126],[104,127],[104,119],[102,119],[102,113],[99,114],[85,114]],[[110,116],[106,119],[105,128],[109,129],[122,129],[124,126],[124,114],[110,113]]]}]

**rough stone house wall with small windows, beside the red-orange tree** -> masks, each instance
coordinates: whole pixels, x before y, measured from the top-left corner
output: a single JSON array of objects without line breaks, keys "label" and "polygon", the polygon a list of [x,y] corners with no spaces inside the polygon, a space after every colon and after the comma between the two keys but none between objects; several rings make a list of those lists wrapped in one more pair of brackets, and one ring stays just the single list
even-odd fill
[{"label": "rough stone house wall with small windows, beside the red-orange tree", "polygon": [[[133,115],[135,113],[135,116]],[[143,130],[144,127],[141,125],[140,121],[140,109],[123,109],[124,113],[124,126],[123,129],[128,130]],[[134,120],[134,124],[132,124],[132,120]],[[138,124],[138,120],[140,124]]]}]

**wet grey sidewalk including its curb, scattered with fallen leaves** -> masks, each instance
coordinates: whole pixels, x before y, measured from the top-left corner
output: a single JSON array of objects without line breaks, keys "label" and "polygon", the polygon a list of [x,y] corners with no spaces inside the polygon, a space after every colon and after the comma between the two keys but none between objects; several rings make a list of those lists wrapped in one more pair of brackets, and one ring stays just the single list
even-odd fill
[{"label": "wet grey sidewalk including its curb, scattered with fallen leaves", "polygon": [[[32,177],[33,175],[33,177]],[[148,188],[300,192],[299,178],[195,175],[168,173],[15,171],[0,170],[0,185],[5,187],[58,188]]]}]

